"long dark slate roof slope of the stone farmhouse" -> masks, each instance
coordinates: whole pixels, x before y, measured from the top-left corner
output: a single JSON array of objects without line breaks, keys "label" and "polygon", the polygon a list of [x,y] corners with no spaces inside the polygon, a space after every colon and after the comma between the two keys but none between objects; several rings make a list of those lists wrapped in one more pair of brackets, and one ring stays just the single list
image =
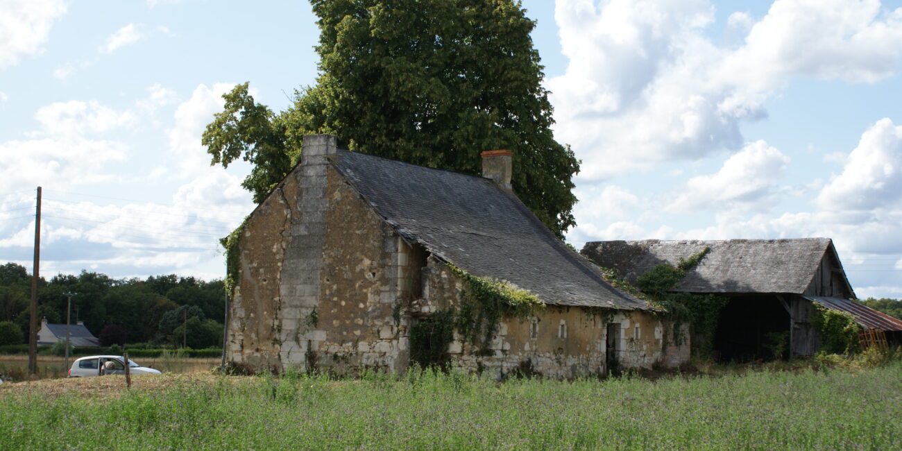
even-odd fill
[{"label": "long dark slate roof slope of the stone farmhouse", "polygon": [[511,282],[547,304],[650,309],[605,282],[492,180],[340,149],[330,161],[399,235],[466,272]]}]

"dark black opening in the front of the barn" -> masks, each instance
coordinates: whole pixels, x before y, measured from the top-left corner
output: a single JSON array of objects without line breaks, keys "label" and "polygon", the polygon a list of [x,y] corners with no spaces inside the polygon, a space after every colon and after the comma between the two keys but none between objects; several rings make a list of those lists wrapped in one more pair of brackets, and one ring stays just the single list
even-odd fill
[{"label": "dark black opening in the front of the barn", "polygon": [[730,299],[721,310],[714,351],[723,362],[773,360],[788,356],[789,314],[778,299]]}]

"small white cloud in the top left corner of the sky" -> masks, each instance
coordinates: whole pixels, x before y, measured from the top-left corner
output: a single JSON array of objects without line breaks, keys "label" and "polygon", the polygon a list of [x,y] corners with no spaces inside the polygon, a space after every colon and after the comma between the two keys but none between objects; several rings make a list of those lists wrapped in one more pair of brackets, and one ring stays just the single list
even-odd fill
[{"label": "small white cloud in the top left corner of the sky", "polygon": [[0,2],[0,69],[40,53],[53,21],[65,13],[62,0]]}]

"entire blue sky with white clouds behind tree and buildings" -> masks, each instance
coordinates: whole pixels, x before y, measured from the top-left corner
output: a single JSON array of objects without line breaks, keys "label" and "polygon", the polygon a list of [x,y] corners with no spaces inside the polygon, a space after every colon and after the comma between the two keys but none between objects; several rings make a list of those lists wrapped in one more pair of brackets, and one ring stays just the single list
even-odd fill
[{"label": "entire blue sky with white clouds behind tree and buildings", "polygon": [[[555,133],[583,161],[577,246],[832,237],[860,297],[902,298],[902,2],[530,0]],[[200,133],[251,82],[316,77],[308,2],[0,0],[0,262],[224,272],[248,168]]]}]

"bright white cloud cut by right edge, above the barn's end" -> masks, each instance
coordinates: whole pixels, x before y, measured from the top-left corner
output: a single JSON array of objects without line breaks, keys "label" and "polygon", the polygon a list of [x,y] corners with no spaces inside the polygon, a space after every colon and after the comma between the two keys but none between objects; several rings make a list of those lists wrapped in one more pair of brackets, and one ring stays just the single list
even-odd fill
[{"label": "bright white cloud cut by right edge, above the barn's end", "polygon": [[817,198],[823,210],[870,210],[898,207],[902,200],[902,125],[879,120],[861,141],[842,173],[827,183]]}]

